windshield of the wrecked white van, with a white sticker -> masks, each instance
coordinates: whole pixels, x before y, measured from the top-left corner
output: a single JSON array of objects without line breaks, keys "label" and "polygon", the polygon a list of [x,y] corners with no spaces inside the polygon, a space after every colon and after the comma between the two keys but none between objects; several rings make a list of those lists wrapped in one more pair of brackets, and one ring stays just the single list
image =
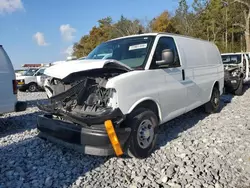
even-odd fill
[{"label": "windshield of the wrecked white van, with a white sticker", "polygon": [[144,67],[154,36],[131,37],[97,46],[86,59],[115,59],[131,68]]}]

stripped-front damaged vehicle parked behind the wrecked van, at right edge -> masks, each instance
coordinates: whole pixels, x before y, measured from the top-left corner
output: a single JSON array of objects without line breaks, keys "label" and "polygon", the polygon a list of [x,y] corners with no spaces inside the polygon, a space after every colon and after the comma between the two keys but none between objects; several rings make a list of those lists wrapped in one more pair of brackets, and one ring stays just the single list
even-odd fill
[{"label": "stripped-front damaged vehicle parked behind the wrecked van, at right edge", "polygon": [[225,89],[235,95],[243,94],[243,84],[249,81],[249,58],[246,53],[221,54],[225,70]]}]

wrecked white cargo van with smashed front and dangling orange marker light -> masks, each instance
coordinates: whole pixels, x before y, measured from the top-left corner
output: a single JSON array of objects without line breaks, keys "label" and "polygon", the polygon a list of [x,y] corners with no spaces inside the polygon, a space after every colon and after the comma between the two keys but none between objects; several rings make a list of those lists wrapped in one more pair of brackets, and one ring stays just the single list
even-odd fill
[{"label": "wrecked white cargo van with smashed front and dangling orange marker light", "polygon": [[149,156],[159,125],[202,105],[217,112],[224,88],[216,45],[167,33],[104,42],[45,74],[39,137],[92,155]]}]

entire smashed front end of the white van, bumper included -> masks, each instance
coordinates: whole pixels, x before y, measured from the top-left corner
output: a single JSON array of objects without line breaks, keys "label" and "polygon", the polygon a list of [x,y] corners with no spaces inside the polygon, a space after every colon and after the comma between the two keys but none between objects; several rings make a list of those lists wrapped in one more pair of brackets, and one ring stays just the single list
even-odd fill
[{"label": "entire smashed front end of the white van, bumper included", "polygon": [[112,121],[114,140],[124,147],[131,129],[122,126],[125,115],[118,107],[115,89],[105,86],[109,78],[125,72],[96,69],[63,79],[48,78],[44,85],[48,99],[38,103],[38,108],[47,112],[38,117],[39,136],[86,154],[111,155],[115,148],[105,122]]}]

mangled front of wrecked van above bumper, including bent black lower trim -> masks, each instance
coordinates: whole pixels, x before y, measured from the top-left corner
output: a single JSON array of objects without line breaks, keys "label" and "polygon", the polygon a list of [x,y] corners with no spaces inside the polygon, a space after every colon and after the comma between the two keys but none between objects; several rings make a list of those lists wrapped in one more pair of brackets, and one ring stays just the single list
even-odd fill
[{"label": "mangled front of wrecked van above bumper, including bent black lower trim", "polygon": [[[57,82],[53,79],[50,81],[51,84]],[[109,119],[121,122],[124,115],[119,108],[112,107],[115,90],[106,89],[105,83],[104,78],[87,77],[72,85],[59,83],[46,86],[47,90],[55,94],[47,99],[47,104],[38,104],[38,107],[79,125],[98,125]],[[57,93],[60,91],[57,87],[64,91]]]}]

